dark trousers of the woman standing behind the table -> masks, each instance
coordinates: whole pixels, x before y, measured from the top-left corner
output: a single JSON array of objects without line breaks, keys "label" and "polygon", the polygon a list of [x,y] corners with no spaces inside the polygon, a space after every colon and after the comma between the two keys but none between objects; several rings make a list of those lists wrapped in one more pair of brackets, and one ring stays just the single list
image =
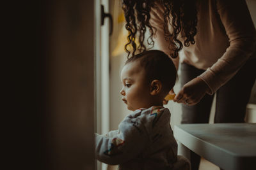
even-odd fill
[{"label": "dark trousers of the woman standing behind the table", "polygon": [[[180,66],[180,83],[183,86],[204,70],[182,63]],[[241,123],[244,122],[246,104],[250,99],[253,83],[256,78],[256,59],[251,59],[216,92],[216,112],[214,123]],[[218,81],[218,80],[217,80]],[[213,96],[205,95],[195,106],[182,104],[181,124],[209,123]],[[197,170],[200,156],[191,152],[191,169]]]}]

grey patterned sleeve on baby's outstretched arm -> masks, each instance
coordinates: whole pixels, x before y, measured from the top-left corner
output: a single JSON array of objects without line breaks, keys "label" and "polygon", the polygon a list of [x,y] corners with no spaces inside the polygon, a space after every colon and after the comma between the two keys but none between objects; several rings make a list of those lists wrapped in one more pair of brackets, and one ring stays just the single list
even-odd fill
[{"label": "grey patterned sleeve on baby's outstretched arm", "polygon": [[118,131],[111,135],[95,134],[95,155],[105,164],[121,164],[136,158],[147,145],[147,141],[147,131],[140,118],[126,117]]}]

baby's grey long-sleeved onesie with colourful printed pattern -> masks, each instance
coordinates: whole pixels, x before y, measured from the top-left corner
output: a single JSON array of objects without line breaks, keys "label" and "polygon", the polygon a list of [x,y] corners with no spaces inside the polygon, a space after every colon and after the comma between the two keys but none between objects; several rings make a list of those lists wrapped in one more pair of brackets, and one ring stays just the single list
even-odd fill
[{"label": "baby's grey long-sleeved onesie with colourful printed pattern", "polygon": [[173,165],[177,163],[177,142],[170,117],[170,111],[161,106],[134,111],[124,118],[118,130],[95,134],[97,159],[118,164],[120,170],[176,169]]}]

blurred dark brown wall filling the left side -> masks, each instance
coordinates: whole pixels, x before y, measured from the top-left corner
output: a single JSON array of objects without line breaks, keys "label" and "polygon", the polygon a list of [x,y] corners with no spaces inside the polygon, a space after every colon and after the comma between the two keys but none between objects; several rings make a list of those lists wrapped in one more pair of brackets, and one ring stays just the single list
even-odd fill
[{"label": "blurred dark brown wall filling the left side", "polygon": [[93,4],[3,5],[10,169],[94,168]]}]

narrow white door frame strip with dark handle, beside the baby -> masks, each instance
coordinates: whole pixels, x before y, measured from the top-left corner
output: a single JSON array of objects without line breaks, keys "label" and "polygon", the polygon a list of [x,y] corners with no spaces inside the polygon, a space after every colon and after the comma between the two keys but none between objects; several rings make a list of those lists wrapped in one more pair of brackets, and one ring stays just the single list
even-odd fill
[{"label": "narrow white door frame strip with dark handle, beside the baby", "polygon": [[[109,34],[112,17],[109,14],[109,1],[95,1],[97,55],[96,55],[96,127],[95,132],[106,134],[109,131]],[[106,164],[97,162],[97,169],[107,169]]]}]

